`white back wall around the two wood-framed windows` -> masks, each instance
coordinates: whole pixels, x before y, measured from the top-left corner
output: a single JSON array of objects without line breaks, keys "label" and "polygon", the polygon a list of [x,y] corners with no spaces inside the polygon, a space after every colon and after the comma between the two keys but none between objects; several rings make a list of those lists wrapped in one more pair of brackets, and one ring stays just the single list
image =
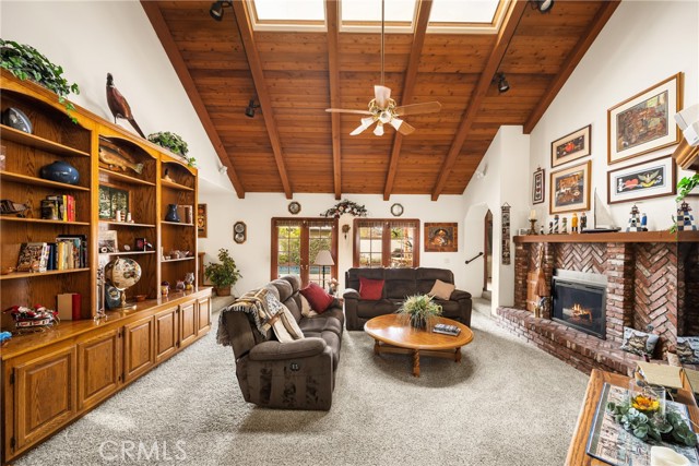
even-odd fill
[{"label": "white back wall around the two wood-framed windows", "polygon": [[[429,195],[393,195],[390,201],[383,201],[379,194],[347,194],[350,199],[366,206],[374,218],[394,218],[390,207],[400,203],[404,213],[396,218],[420,219],[420,266],[450,268],[454,273],[457,287],[465,289],[464,235],[463,218],[465,206],[460,195],[441,195],[439,201],[430,201]],[[297,194],[294,201],[301,204],[300,217],[318,217],[321,212],[337,203],[332,194]],[[259,287],[270,279],[271,267],[271,218],[292,217],[287,211],[289,200],[283,193],[247,193],[239,200],[234,194],[217,190],[204,189],[200,193],[200,202],[208,204],[209,231],[208,238],[199,240],[199,250],[206,252],[205,263],[215,261],[220,248],[226,248],[242,274],[236,284],[237,294]],[[344,288],[345,271],[352,267],[353,230],[347,239],[342,234],[342,225],[352,226],[355,217],[344,215],[340,218],[340,236],[337,241],[337,266],[341,288]],[[248,239],[244,244],[233,241],[233,224],[245,222],[248,226]],[[457,222],[459,223],[459,252],[424,252],[425,222]],[[470,241],[470,239],[466,239]]]}]

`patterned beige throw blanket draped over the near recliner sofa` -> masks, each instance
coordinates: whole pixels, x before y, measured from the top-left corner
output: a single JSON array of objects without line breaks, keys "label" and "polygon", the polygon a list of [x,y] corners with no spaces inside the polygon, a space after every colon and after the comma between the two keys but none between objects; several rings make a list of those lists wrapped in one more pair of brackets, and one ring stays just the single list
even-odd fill
[{"label": "patterned beige throw blanket draped over the near recliner sofa", "polygon": [[304,332],[296,323],[294,314],[286,306],[271,294],[266,288],[248,291],[238,298],[233,304],[221,311],[218,316],[218,333],[216,340],[224,346],[230,346],[230,337],[223,325],[225,312],[246,312],[252,315],[254,325],[264,339],[270,339],[270,328],[282,343],[304,338]]}]

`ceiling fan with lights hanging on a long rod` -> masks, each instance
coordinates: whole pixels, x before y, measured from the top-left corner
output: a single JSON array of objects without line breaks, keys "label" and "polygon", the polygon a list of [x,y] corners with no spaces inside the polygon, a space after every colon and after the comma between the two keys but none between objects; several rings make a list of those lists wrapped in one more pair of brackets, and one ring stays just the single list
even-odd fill
[{"label": "ceiling fan with lights hanging on a long rod", "polygon": [[381,0],[381,84],[374,86],[374,98],[369,101],[368,110],[348,110],[343,108],[327,108],[325,111],[339,112],[339,113],[356,113],[367,115],[367,117],[360,120],[360,124],[355,128],[350,135],[357,135],[370,128],[374,123],[374,134],[377,136],[383,135],[383,126],[390,124],[403,135],[408,135],[415,131],[415,128],[407,124],[399,117],[406,115],[419,115],[419,113],[434,113],[441,109],[441,104],[438,101],[427,101],[424,104],[412,104],[396,106],[395,100],[391,98],[391,89],[383,85],[383,38],[384,38],[384,5]]}]

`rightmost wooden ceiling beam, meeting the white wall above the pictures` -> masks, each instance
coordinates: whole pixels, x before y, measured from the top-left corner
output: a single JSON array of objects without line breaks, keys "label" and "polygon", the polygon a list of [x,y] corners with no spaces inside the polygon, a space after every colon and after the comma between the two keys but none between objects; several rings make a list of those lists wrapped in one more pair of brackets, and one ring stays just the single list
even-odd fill
[{"label": "rightmost wooden ceiling beam, meeting the white wall above the pictures", "polygon": [[584,57],[584,55],[588,52],[588,49],[590,48],[590,46],[592,46],[592,43],[597,37],[600,32],[602,32],[605,24],[607,24],[607,21],[609,21],[609,17],[612,17],[612,14],[614,14],[616,8],[620,2],[620,0],[602,2],[597,14],[594,16],[594,20],[592,20],[592,23],[590,24],[590,27],[588,27],[588,29],[583,34],[581,34],[580,41],[576,45],[576,47],[572,49],[572,51],[561,65],[560,71],[548,86],[546,94],[544,94],[541,100],[538,100],[536,107],[530,113],[529,119],[524,123],[524,134],[530,134],[534,130],[534,127],[536,126],[536,123],[538,123],[538,120],[541,120],[541,118],[544,116],[544,112],[546,111],[550,103],[554,101],[554,98],[556,98],[558,92],[561,89],[564,84],[566,84],[566,81],[568,81],[572,72],[576,70],[576,67],[578,67],[578,63],[580,63],[582,57]]}]

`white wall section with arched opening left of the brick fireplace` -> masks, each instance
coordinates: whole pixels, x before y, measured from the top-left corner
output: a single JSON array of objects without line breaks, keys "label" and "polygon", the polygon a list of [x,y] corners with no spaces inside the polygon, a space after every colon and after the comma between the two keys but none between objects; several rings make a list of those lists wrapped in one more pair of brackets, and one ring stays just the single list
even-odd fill
[{"label": "white wall section with arched opening left of the brick fireplace", "polygon": [[[510,264],[503,265],[501,205],[510,204],[510,237],[519,228],[526,228],[529,215],[528,183],[522,174],[529,167],[529,136],[522,127],[500,127],[478,169],[483,178],[472,178],[463,194],[467,206],[464,231],[467,241],[466,256],[483,251],[484,218],[488,210],[493,213],[493,309],[514,303],[514,244],[510,242]],[[483,289],[484,258],[478,258],[465,270],[465,290],[481,296]]]}]

